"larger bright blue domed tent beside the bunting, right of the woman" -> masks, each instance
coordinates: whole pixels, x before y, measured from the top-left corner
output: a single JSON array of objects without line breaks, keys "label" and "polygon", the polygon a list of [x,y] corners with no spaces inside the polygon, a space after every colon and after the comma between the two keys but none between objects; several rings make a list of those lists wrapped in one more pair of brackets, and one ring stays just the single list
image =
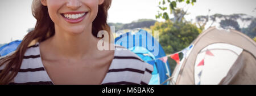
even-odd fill
[{"label": "larger bright blue domed tent beside the bunting, right of the woman", "polygon": [[[159,51],[157,55],[154,53],[155,49],[152,50],[152,48],[148,47],[148,41],[152,41],[152,46],[158,47]],[[154,37],[151,36],[151,34],[147,33],[145,30],[139,29],[139,31],[134,34],[131,32],[122,34],[121,36],[115,38],[115,44],[126,47],[130,51],[133,51],[135,54],[137,54],[148,64],[154,66],[154,71],[152,72],[152,78],[149,84],[162,84],[165,80],[167,80],[167,75],[171,76],[171,69],[168,61],[167,63],[164,63],[162,60],[157,59],[166,56],[162,46],[158,41],[155,40]],[[146,46],[143,46],[145,44]],[[167,82],[164,84],[167,84]]]}]

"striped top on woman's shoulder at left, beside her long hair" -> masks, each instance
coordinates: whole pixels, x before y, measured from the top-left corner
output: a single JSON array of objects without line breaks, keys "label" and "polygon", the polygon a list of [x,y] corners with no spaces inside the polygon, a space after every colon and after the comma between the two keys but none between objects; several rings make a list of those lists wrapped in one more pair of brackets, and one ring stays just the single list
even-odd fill
[{"label": "striped top on woman's shoulder at left, beside her long hair", "polygon": [[22,64],[12,84],[48,84],[51,81],[44,69],[39,43],[27,47],[23,55]]}]

